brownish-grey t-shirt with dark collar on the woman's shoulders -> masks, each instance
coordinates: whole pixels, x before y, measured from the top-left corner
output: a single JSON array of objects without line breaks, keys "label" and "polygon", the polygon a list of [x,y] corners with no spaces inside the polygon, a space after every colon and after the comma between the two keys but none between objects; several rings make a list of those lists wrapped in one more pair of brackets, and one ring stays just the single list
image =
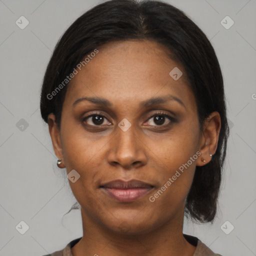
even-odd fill
[{"label": "brownish-grey t-shirt with dark collar on the woman's shoulders", "polygon": [[[220,254],[214,253],[209,247],[207,247],[197,237],[188,235],[188,234],[183,234],[183,236],[189,243],[196,246],[193,256],[222,256]],[[73,247],[80,239],[81,237],[76,238],[70,241],[63,249],[52,252],[51,254],[43,255],[43,256],[72,256],[71,247]]]}]

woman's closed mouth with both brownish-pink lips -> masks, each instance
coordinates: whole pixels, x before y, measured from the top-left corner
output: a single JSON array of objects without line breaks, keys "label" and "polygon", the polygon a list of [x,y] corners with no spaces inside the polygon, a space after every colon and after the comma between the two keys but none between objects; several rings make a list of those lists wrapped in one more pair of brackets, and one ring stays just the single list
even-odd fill
[{"label": "woman's closed mouth with both brownish-pink lips", "polygon": [[153,187],[151,184],[135,179],[129,181],[117,179],[99,186],[107,195],[121,202],[136,200],[146,195]]}]

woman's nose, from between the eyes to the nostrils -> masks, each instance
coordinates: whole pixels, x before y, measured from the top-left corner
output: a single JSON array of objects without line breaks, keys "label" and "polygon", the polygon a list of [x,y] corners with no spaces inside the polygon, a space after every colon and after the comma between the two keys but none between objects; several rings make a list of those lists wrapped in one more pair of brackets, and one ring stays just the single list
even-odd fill
[{"label": "woman's nose, from between the eyes to the nostrils", "polygon": [[115,136],[110,140],[110,151],[107,161],[113,166],[121,165],[124,169],[131,169],[146,164],[145,144],[141,138],[135,134],[135,129],[131,127],[123,131],[116,127]]}]

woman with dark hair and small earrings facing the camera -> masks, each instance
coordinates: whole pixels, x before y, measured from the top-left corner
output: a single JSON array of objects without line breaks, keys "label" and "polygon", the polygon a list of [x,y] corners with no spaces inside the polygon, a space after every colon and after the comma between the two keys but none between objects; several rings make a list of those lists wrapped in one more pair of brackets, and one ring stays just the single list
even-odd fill
[{"label": "woman with dark hair and small earrings facing the camera", "polygon": [[228,125],[214,49],[182,11],[110,0],[65,31],[40,110],[83,235],[49,255],[219,255],[183,234],[216,214]]}]

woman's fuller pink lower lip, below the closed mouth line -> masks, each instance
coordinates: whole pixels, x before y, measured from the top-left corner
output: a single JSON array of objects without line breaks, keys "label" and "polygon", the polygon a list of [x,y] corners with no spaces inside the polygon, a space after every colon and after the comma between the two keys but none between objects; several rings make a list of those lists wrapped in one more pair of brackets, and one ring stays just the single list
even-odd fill
[{"label": "woman's fuller pink lower lip, below the closed mouth line", "polygon": [[116,189],[116,188],[107,188],[103,189],[112,197],[121,202],[129,202],[135,199],[142,197],[147,194],[151,188],[129,188],[129,189]]}]

